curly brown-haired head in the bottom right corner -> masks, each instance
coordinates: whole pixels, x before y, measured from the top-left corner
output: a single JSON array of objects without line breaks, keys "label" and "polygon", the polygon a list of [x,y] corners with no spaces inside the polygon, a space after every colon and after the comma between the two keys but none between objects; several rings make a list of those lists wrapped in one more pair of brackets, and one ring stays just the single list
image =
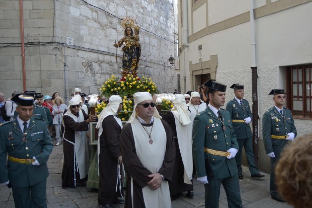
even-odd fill
[{"label": "curly brown-haired head in the bottom right corner", "polygon": [[285,147],[275,168],[278,192],[289,204],[312,207],[312,134]]}]

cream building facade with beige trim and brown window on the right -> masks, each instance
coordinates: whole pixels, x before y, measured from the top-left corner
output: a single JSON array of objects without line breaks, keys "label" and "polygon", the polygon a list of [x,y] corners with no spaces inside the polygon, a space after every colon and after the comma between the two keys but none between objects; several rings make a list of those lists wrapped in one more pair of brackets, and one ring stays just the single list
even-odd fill
[{"label": "cream building facade with beige trim and brown window on the right", "polygon": [[266,172],[261,119],[274,105],[271,89],[286,90],[298,135],[312,132],[311,9],[311,0],[178,1],[182,92],[216,79],[228,86],[227,103],[234,97],[229,86],[240,83],[252,104],[251,66],[257,66],[259,166]]}]

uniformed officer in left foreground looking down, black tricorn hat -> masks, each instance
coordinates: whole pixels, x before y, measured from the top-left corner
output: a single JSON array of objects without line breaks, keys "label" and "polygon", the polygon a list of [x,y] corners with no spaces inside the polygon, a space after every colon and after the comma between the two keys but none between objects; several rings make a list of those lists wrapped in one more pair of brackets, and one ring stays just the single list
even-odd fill
[{"label": "uniformed officer in left foreground looking down, black tricorn hat", "polygon": [[31,95],[16,94],[11,100],[18,116],[0,127],[0,183],[12,187],[15,207],[47,207],[49,130],[44,120],[32,117]]}]

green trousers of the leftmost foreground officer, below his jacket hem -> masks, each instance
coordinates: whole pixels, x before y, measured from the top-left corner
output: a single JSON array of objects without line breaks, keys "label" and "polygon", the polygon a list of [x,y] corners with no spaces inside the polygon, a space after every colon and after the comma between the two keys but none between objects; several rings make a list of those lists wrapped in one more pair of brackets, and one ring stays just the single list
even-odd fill
[{"label": "green trousers of the leftmost foreground officer, below his jacket hem", "polygon": [[35,185],[16,188],[12,187],[16,208],[44,208],[46,206],[46,180]]}]

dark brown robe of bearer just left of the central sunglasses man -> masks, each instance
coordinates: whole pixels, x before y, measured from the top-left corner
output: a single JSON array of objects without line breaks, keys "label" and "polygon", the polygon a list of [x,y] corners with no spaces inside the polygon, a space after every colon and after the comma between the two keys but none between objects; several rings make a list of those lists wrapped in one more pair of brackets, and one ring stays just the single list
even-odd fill
[{"label": "dark brown robe of bearer just left of the central sunglasses man", "polygon": [[[115,197],[121,197],[117,181],[117,159],[121,155],[119,139],[121,128],[117,123],[114,115],[107,116],[102,122],[103,132],[100,135],[100,155],[99,155],[99,172],[100,183],[98,202],[101,205],[111,204]],[[122,168],[120,168],[120,175],[122,175]],[[123,189],[121,190],[123,194]],[[124,194],[123,194],[124,195]]]}]

